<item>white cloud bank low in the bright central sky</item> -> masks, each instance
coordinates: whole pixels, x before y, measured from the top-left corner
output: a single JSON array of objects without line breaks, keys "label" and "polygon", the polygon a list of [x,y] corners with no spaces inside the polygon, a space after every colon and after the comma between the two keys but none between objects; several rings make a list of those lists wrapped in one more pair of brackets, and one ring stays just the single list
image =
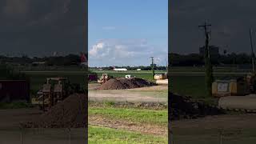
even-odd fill
[{"label": "white cloud bank low in the bright central sky", "polygon": [[94,66],[149,65],[151,56],[158,65],[165,64],[167,47],[156,49],[146,39],[103,39],[89,49],[89,62]]}]

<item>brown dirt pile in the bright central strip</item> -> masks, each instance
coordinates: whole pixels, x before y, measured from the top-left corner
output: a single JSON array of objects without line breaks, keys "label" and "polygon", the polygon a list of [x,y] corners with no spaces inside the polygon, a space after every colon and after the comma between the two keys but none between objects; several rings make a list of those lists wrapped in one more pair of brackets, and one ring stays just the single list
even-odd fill
[{"label": "brown dirt pile in the bright central strip", "polygon": [[153,82],[147,82],[142,78],[111,78],[98,87],[98,90],[122,90],[138,87],[154,86]]}]

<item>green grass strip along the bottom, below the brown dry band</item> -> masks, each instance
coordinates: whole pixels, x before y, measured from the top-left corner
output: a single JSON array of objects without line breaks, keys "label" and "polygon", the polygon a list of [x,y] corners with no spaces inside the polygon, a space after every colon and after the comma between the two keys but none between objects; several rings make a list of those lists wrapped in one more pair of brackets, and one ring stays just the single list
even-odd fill
[{"label": "green grass strip along the bottom, below the brown dry band", "polygon": [[139,134],[125,130],[89,126],[88,142],[91,144],[167,143],[167,138],[147,134]]}]

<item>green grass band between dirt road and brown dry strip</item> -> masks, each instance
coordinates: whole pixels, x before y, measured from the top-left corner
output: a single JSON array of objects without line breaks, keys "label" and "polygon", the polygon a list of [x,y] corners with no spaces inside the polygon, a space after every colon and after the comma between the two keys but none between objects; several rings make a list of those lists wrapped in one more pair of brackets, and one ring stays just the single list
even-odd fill
[{"label": "green grass band between dirt road and brown dry strip", "polygon": [[111,120],[123,120],[128,122],[154,124],[167,126],[167,110],[140,110],[135,108],[115,108],[111,106],[91,107],[89,106],[89,116],[98,115]]}]

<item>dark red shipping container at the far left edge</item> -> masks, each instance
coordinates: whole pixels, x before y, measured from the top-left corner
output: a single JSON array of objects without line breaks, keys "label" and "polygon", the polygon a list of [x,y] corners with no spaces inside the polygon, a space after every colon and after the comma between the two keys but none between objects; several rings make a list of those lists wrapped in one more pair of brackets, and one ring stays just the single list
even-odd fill
[{"label": "dark red shipping container at the far left edge", "polygon": [[30,101],[30,82],[0,80],[0,102]]}]

